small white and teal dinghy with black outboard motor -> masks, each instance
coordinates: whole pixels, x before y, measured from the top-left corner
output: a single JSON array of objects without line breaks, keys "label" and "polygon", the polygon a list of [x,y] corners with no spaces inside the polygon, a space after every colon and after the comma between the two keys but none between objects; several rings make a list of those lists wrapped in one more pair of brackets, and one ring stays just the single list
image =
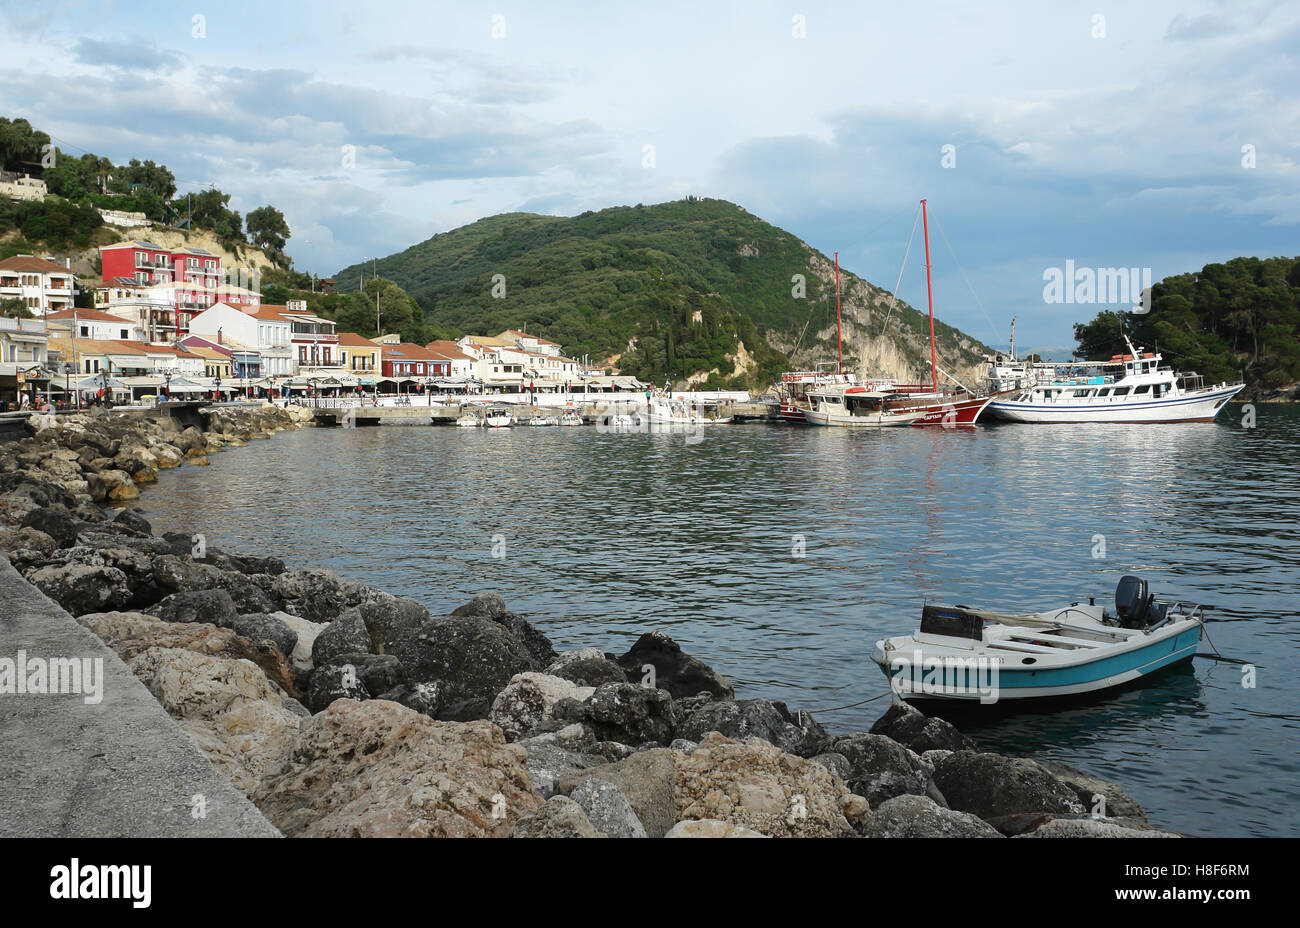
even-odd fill
[{"label": "small white and teal dinghy with black outboard motor", "polygon": [[1191,660],[1204,621],[1200,606],[1158,600],[1126,576],[1115,615],[1092,599],[1020,615],[924,606],[920,629],[878,641],[871,659],[907,701],[1078,695]]}]

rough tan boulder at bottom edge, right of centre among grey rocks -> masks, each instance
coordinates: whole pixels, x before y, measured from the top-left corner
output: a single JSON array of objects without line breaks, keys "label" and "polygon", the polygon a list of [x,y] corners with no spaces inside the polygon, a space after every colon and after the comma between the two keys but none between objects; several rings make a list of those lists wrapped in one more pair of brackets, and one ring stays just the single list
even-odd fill
[{"label": "rough tan boulder at bottom edge, right of centre among grey rocks", "polygon": [[866,812],[820,764],[762,738],[741,743],[716,732],[690,754],[671,753],[677,820],[715,819],[772,837],[848,837],[846,818]]}]

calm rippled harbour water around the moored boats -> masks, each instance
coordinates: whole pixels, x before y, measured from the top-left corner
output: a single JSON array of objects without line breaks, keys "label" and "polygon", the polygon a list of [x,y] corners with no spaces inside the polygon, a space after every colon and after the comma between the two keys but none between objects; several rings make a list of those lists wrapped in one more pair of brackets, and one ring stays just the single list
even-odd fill
[{"label": "calm rippled harbour water around the moored boats", "polygon": [[[623,651],[663,628],[737,695],[811,710],[885,693],[872,643],[913,630],[926,597],[1110,603],[1119,576],[1139,573],[1204,603],[1214,645],[1251,662],[1256,685],[1199,658],[1113,697],[963,729],[988,750],[1112,779],[1164,827],[1296,834],[1300,409],[1262,407],[1253,429],[1239,416],[733,425],[697,443],[594,428],[309,429],[164,472],[140,503],[156,530],[330,567],[436,613],[499,591],[560,649]],[[885,707],[820,717],[864,729]]]}]

